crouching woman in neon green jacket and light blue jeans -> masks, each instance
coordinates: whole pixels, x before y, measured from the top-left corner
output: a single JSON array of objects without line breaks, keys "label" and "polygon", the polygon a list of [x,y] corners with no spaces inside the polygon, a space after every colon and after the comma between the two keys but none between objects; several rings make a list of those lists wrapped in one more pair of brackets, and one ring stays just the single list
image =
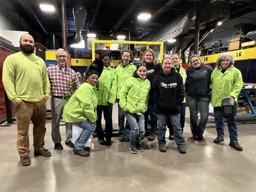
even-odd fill
[{"label": "crouching woman in neon green jacket and light blue jeans", "polygon": [[84,83],[77,89],[67,101],[63,110],[63,121],[70,122],[83,129],[79,138],[74,143],[74,154],[82,157],[90,155],[90,148],[84,147],[91,134],[95,130],[97,120],[99,73],[90,70],[84,77]]}]

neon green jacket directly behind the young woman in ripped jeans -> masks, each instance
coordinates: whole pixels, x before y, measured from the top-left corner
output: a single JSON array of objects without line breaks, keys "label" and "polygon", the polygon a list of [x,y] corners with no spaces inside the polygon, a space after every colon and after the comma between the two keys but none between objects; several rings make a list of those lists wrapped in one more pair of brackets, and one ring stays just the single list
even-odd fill
[{"label": "neon green jacket directly behind the young woman in ripped jeans", "polygon": [[136,66],[133,63],[130,63],[125,68],[123,68],[122,64],[119,64],[116,67],[116,75],[118,76],[118,94],[116,98],[119,99],[119,93],[125,84],[125,81],[133,76],[134,71],[136,71]]}]

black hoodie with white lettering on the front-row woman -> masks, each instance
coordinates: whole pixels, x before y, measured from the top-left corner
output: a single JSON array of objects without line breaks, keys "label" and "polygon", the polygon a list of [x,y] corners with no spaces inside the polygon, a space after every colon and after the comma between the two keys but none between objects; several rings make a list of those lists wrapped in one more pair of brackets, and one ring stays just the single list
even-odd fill
[{"label": "black hoodie with white lettering on the front-row woman", "polygon": [[182,76],[172,67],[166,75],[161,70],[152,83],[152,95],[157,103],[158,114],[179,114],[184,99]]}]

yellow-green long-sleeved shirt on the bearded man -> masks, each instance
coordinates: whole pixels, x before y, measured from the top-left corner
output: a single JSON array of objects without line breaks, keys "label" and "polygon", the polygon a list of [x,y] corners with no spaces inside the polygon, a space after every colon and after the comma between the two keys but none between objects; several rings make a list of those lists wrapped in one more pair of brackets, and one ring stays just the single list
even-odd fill
[{"label": "yellow-green long-sleeved shirt on the bearded man", "polygon": [[29,102],[41,101],[49,97],[50,84],[44,61],[36,56],[26,56],[22,52],[9,55],[3,63],[3,86],[8,98],[16,103],[20,99]]}]

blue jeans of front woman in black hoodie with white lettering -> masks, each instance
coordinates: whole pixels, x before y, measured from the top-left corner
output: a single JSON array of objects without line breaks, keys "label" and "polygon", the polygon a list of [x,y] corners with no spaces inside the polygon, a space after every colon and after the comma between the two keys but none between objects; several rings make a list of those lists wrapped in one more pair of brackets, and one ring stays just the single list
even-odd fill
[{"label": "blue jeans of front woman in black hoodie with white lettering", "polygon": [[185,139],[182,134],[182,127],[180,127],[180,114],[159,114],[158,115],[158,134],[157,140],[159,146],[165,146],[165,133],[166,133],[166,125],[167,120],[170,120],[172,123],[173,131],[174,131],[174,138],[177,144],[177,147],[184,147]]}]

